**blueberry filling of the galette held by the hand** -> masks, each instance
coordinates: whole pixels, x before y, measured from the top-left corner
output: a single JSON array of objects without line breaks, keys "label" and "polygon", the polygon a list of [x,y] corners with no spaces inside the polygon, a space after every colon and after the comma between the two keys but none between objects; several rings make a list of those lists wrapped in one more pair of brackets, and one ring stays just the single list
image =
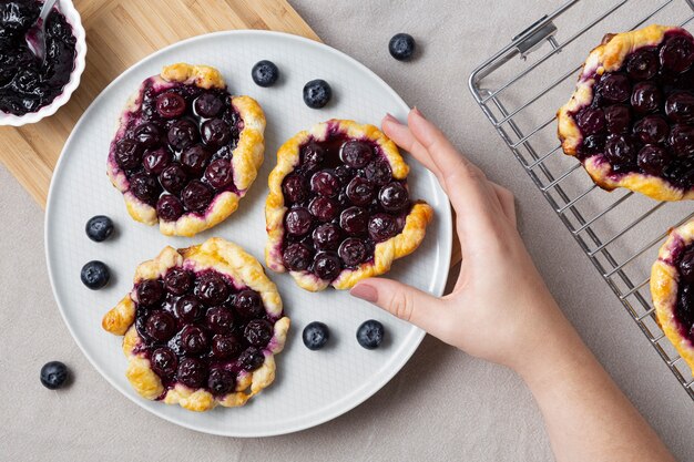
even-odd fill
[{"label": "blueberry filling of the galette held by the hand", "polygon": [[283,263],[334,280],[372,261],[376,245],[402,230],[411,208],[407,184],[392,177],[381,148],[368,140],[331,134],[310,140],[299,154],[282,185],[288,208]]}]

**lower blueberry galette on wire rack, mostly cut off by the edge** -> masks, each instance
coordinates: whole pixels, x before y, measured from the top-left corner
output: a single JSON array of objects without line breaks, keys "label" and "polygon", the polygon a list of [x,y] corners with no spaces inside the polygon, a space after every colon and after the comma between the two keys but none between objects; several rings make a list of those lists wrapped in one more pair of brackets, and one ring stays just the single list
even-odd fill
[{"label": "lower blueberry galette on wire rack, mostly cut off by the edge", "polygon": [[694,220],[670,232],[651,270],[657,321],[694,370]]}]

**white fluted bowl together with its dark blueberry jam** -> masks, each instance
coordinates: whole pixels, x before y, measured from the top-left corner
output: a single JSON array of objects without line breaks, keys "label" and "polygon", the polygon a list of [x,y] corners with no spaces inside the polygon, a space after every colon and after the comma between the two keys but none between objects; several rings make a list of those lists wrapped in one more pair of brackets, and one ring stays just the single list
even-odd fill
[{"label": "white fluted bowl together with its dark blueberry jam", "polygon": [[35,0],[0,2],[0,125],[21,126],[52,115],[80,84],[86,43],[79,12],[61,0],[49,14],[42,63],[25,33],[39,17]]}]

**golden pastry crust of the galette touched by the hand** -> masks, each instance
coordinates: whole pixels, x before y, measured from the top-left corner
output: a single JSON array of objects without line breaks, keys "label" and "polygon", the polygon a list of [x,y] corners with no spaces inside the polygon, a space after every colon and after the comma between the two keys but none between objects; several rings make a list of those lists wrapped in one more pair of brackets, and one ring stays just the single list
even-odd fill
[{"label": "golden pastry crust of the galette touched by the hand", "polygon": [[[344,133],[349,138],[369,140],[376,143],[384,153],[392,177],[405,179],[409,166],[402,160],[396,144],[378,127],[369,124],[359,124],[349,120],[330,120],[314,125],[308,131],[302,131],[285,142],[277,151],[277,165],[269,174],[269,193],[265,201],[265,222],[267,229],[267,245],[265,261],[277,273],[285,273],[287,268],[282,260],[282,244],[284,239],[284,216],[287,207],[284,203],[282,183],[299,164],[299,151],[310,140],[325,141],[331,134]],[[433,217],[433,209],[423,202],[416,203],[410,209],[404,229],[388,240],[378,243],[374,251],[372,261],[360,264],[355,269],[344,269],[333,281],[318,278],[310,271],[289,271],[296,284],[310,291],[324,290],[328,286],[336,289],[349,289],[357,281],[387,273],[392,261],[411,254],[423,240],[426,228]]]}]

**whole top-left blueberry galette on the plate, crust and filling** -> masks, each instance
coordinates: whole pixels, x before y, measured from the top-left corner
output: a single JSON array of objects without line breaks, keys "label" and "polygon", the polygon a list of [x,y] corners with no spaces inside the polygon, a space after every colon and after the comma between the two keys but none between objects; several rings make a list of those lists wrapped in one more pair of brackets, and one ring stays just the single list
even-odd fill
[{"label": "whole top-left blueberry galette on the plate, crust and filling", "polygon": [[111,142],[108,173],[130,215],[193,236],[238,207],[263,163],[265,115],[220,72],[177,63],[146,79]]}]

